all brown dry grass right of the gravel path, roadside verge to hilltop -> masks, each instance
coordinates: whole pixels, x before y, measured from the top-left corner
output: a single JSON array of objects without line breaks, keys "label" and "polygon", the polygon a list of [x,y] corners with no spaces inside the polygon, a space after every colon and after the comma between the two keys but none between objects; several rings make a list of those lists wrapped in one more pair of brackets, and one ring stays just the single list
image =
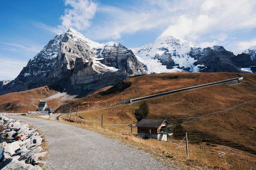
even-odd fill
[{"label": "all brown dry grass right of the gravel path, roadside verge to hilltop", "polygon": [[[88,122],[85,125],[78,125],[86,129],[95,130],[107,136],[134,144],[139,148],[150,151],[151,153],[165,157],[170,152],[169,161],[175,161],[186,168],[207,169],[250,169],[255,168],[255,155],[246,151],[255,151],[255,102],[245,104],[230,111],[211,114],[200,119],[180,119],[191,116],[202,116],[216,111],[226,110],[235,105],[250,100],[256,100],[256,75],[238,74],[238,73],[163,73],[153,75],[143,75],[133,77],[124,82],[131,82],[131,86],[112,93],[104,95],[110,87],[100,89],[87,95],[82,99],[77,99],[63,105],[58,109],[60,112],[66,112],[70,106],[75,109],[80,107],[87,109],[94,105],[106,106],[106,103],[112,105],[120,100],[128,100],[137,97],[147,96],[160,92],[176,90],[184,87],[201,85],[238,76],[244,76],[245,79],[238,85],[216,85],[200,89],[194,89],[182,93],[167,95],[154,99],[144,100],[148,111],[145,118],[167,118],[175,127],[175,139],[177,143],[183,137],[185,131],[188,132],[190,160],[184,156],[185,152],[171,147],[154,139],[144,140],[129,135],[120,135],[120,131],[125,126],[111,126],[109,123],[133,123],[137,122],[135,112],[141,110],[141,102],[126,104],[103,110],[83,112],[79,115],[87,120],[100,120],[101,114],[104,115],[104,131],[100,131],[98,122]],[[74,119],[74,117],[73,117]],[[79,118],[78,118],[79,119]],[[72,123],[71,123],[72,124]],[[134,131],[136,133],[136,130]],[[203,142],[211,143],[205,145],[205,150],[199,150],[198,142],[203,138]],[[215,145],[222,144],[222,145]],[[165,146],[167,145],[167,146]],[[230,146],[230,147],[229,147]],[[234,148],[239,148],[234,149]],[[162,153],[164,151],[164,153]],[[217,153],[226,152],[224,156]],[[253,168],[253,169],[254,169]]]}]

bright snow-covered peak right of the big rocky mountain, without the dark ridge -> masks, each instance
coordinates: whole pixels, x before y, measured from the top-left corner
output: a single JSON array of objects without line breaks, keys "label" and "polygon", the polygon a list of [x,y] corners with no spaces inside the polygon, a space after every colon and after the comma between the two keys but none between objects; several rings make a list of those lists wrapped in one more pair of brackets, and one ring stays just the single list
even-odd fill
[{"label": "bright snow-covered peak right of the big rocky mountain, without the dark ridge", "polygon": [[147,66],[149,73],[160,73],[193,69],[196,60],[188,55],[191,48],[199,46],[173,36],[159,36],[152,42],[131,50]]}]

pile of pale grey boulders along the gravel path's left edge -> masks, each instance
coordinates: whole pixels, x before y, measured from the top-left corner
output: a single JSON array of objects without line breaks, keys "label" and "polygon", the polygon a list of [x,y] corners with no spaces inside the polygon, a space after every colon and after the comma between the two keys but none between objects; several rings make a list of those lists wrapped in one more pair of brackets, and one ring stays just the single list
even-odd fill
[{"label": "pile of pale grey boulders along the gravel path's left edge", "polygon": [[36,129],[3,114],[0,114],[0,125],[6,127],[0,135],[11,139],[11,142],[0,143],[0,169],[41,170],[39,157],[47,152],[40,147],[43,138]]}]

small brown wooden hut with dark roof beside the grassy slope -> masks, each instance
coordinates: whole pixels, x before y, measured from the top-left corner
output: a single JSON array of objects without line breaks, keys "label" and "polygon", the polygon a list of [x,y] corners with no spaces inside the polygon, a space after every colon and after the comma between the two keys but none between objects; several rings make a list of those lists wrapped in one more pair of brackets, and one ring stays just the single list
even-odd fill
[{"label": "small brown wooden hut with dark roof beside the grassy slope", "polygon": [[167,135],[172,135],[167,131],[168,124],[165,119],[142,119],[135,126],[138,127],[138,136],[166,141]]}]

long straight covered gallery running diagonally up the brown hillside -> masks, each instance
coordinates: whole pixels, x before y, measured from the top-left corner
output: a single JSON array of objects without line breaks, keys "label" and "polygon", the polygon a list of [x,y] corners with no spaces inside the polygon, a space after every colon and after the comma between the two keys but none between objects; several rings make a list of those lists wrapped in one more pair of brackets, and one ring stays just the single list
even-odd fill
[{"label": "long straight covered gallery running diagonally up the brown hillside", "polygon": [[155,97],[159,97],[159,96],[164,96],[164,95],[168,95],[168,94],[178,93],[178,92],[181,92],[181,91],[192,90],[192,89],[195,89],[195,88],[202,88],[202,87],[211,86],[211,85],[220,85],[220,84],[224,84],[224,83],[232,82],[232,81],[241,82],[242,79],[243,79],[243,77],[238,77],[238,78],[234,78],[234,79],[223,80],[223,81],[209,83],[209,84],[205,84],[205,85],[197,85],[197,86],[193,86],[193,87],[182,88],[182,89],[179,89],[179,90],[167,91],[167,92],[164,92],[164,93],[159,93],[159,94],[155,94],[155,95],[151,95],[151,96],[145,96],[145,97],[141,97],[141,98],[131,99],[130,103],[134,103],[134,102],[137,102],[137,101],[140,101],[140,100],[151,99],[151,98],[155,98]]}]

